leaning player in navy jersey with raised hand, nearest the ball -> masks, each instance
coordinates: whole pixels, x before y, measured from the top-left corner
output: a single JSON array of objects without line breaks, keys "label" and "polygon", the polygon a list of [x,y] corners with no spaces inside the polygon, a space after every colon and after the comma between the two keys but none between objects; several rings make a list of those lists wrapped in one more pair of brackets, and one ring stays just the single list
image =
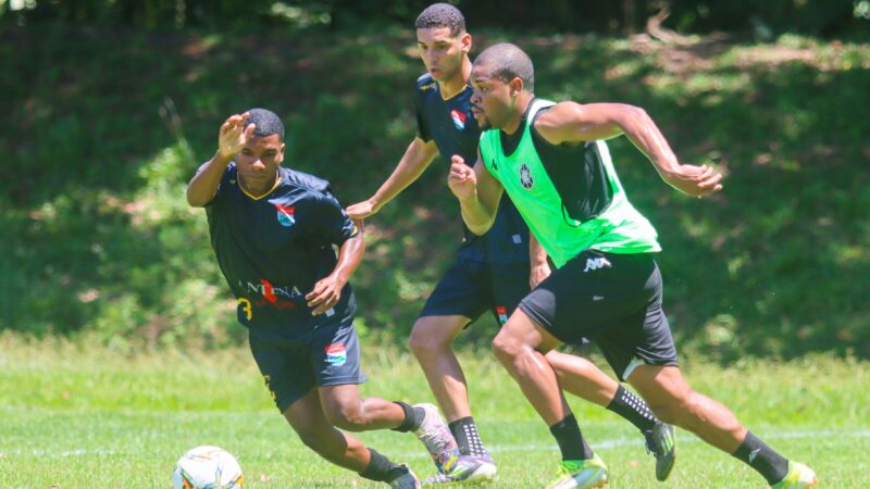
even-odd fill
[{"label": "leaning player in navy jersey with raised hand, nearest the ball", "polygon": [[407,466],[336,429],[413,431],[436,465],[459,453],[434,405],[360,398],[365,375],[348,279],[365,249],[362,230],[328,181],[281,166],[284,125],[273,112],[232,115],[217,141],[187,201],[206,208],[217,264],[275,405],[327,461],[394,488],[420,487]]}]

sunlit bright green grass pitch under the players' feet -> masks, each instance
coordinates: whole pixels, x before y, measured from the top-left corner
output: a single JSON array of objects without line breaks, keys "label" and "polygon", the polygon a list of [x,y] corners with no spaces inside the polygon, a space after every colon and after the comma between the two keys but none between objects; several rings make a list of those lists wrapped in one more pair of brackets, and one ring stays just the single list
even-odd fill
[{"label": "sunlit bright green grass pitch under the players' feet", "polygon": [[[363,342],[364,344],[364,342]],[[363,346],[364,393],[431,401],[413,359]],[[460,359],[484,441],[500,466],[494,487],[543,487],[558,460],[546,426],[487,352]],[[870,487],[870,364],[816,356],[684,361],[697,390],[725,402],[821,487]],[[679,461],[660,485],[634,428],[572,399],[584,435],[608,463],[611,488],[761,488],[734,459],[679,431]],[[361,438],[418,474],[433,471],[419,442],[393,431]],[[210,354],[113,353],[0,334],[0,488],[165,488],[177,457],[198,444],[236,454],[246,487],[376,487],[308,451],[277,414],[246,349]]]}]

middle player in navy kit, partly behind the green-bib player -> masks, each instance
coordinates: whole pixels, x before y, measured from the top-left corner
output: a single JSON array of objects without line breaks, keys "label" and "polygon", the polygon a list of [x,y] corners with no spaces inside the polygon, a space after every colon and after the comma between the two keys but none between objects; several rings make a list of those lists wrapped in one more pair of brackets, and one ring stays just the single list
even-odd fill
[{"label": "middle player in navy kit, partly behind the green-bib player", "polygon": [[[427,73],[417,80],[417,137],[393,174],[368,200],[347,209],[365,218],[398,196],[440,154],[476,161],[481,129],[471,112],[472,38],[462,13],[447,3],[430,5],[417,18],[417,43]],[[547,255],[506,196],[493,227],[476,236],[463,226],[464,240],[456,261],[430,296],[409,338],[430,387],[449,422],[462,456],[452,471],[424,484],[485,481],[496,466],[481,441],[469,404],[468,386],[452,351],[452,340],[484,312],[504,325],[520,300],[546,278]],[[656,476],[664,480],[674,464],[673,430],[659,423],[646,403],[580,356],[551,351],[547,360],[563,388],[602,405],[634,424],[656,456]]]}]

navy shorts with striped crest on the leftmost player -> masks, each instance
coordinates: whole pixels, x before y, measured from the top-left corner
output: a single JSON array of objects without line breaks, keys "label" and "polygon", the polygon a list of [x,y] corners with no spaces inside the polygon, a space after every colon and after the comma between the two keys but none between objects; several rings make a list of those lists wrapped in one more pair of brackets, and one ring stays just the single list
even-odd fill
[{"label": "navy shorts with striped crest on the leftmost player", "polygon": [[322,326],[295,340],[248,335],[251,353],[278,411],[284,413],[314,387],[362,384],[360,341],[349,326]]}]

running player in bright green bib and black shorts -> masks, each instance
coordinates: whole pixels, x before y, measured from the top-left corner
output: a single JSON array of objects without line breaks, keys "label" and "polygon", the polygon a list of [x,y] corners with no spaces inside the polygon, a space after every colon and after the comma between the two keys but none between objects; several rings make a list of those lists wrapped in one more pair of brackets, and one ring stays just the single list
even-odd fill
[{"label": "running player in bright green bib and black shorts", "polygon": [[597,342],[619,378],[662,422],[745,462],[774,489],[815,486],[809,467],[773,451],[728,408],[686,384],[662,310],[656,229],[629,202],[605,140],[624,134],[664,181],[689,196],[721,190],[722,175],[681,164],[642,109],[536,99],[532,61],[517,46],[484,50],[471,84],[473,113],[484,130],[478,158],[469,167],[453,156],[448,176],[462,218],[473,233],[485,233],[507,191],[557,266],[493,341],[561,450],[558,475],[547,487],[592,488],[608,480],[544,358],[581,338]]}]

